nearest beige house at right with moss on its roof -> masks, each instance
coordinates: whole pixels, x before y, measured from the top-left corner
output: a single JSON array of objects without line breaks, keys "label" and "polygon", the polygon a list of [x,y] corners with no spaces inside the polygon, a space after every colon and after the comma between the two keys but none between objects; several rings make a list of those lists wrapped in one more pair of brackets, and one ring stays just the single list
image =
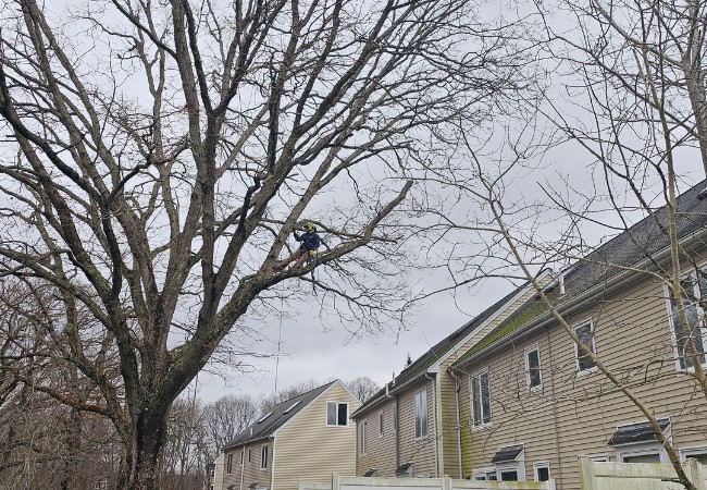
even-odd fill
[{"label": "nearest beige house at right with moss on its roof", "polygon": [[[707,199],[704,182],[678,199],[686,317],[707,367]],[[666,224],[665,209],[655,212]],[[675,302],[666,235],[646,219],[557,278],[547,294],[583,344],[659,419],[682,458],[707,464],[707,393],[695,378]],[[694,261],[694,265],[691,265]],[[695,266],[697,269],[695,269]],[[665,270],[663,270],[665,268]],[[699,280],[696,280],[699,271]],[[705,275],[703,275],[705,273]],[[549,289],[548,289],[549,290]],[[449,369],[458,378],[463,478],[545,480],[579,488],[578,456],[663,462],[645,415],[580,352],[538,296]]]}]

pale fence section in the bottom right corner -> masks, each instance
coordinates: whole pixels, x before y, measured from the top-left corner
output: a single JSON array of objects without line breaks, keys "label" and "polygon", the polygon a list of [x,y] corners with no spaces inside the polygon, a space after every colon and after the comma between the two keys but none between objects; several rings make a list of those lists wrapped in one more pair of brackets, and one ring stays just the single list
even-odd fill
[{"label": "pale fence section in the bottom right corner", "polygon": [[[695,460],[683,463],[697,490],[707,490],[707,468]],[[582,490],[684,490],[672,465],[658,463],[596,463],[580,456]]]}]

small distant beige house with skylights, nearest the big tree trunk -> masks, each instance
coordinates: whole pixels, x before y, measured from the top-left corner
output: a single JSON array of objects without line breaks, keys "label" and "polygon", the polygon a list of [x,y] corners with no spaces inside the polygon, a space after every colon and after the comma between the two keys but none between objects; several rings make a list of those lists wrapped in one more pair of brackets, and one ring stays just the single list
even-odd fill
[{"label": "small distant beige house with skylights, nearest the big tree trunk", "polygon": [[[223,490],[294,490],[356,468],[360,402],[338,380],[282,402],[223,450]],[[220,489],[220,490],[221,490]]]}]

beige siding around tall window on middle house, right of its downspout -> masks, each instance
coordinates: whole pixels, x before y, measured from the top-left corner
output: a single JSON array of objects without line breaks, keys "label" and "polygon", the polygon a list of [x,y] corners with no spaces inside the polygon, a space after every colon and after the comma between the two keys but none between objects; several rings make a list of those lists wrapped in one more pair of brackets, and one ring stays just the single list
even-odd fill
[{"label": "beige siding around tall window on middle house, right of its downspout", "polygon": [[[434,416],[434,383],[423,379],[410,387],[398,397],[399,464],[412,463],[413,475],[429,474],[437,476],[436,471],[436,430]],[[427,394],[427,436],[422,439],[414,437],[414,394],[425,391]]]}]

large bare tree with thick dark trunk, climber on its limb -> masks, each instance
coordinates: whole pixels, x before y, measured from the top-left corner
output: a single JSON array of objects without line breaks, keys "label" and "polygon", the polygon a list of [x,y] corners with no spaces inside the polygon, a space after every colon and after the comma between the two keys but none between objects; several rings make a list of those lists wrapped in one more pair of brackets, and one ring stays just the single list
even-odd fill
[{"label": "large bare tree with thick dark trunk, climber on its limb", "polygon": [[[0,268],[55,287],[61,353],[100,396],[33,388],[114,424],[119,488],[158,487],[170,406],[274,284],[317,282],[361,331],[399,320],[410,179],[528,86],[479,5],[2,2]],[[274,274],[302,217],[325,247]]]}]

